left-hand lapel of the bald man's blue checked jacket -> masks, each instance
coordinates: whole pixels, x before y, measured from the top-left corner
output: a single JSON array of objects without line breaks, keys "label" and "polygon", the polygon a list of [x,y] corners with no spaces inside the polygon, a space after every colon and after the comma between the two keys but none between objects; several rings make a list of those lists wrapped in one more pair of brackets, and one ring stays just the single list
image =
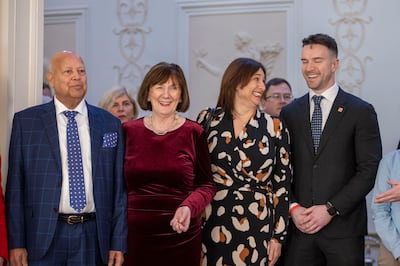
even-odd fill
[{"label": "left-hand lapel of the bald man's blue checked jacket", "polygon": [[40,115],[40,119],[43,122],[57,166],[61,169],[60,142],[58,139],[57,114],[54,101],[43,105],[43,108],[44,112]]}]

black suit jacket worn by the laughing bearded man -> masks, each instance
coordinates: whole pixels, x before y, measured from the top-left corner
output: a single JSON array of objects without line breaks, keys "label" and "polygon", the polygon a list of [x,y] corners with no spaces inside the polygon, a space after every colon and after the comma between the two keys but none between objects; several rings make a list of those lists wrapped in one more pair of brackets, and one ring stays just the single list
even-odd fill
[{"label": "black suit jacket worn by the laughing bearded man", "polygon": [[340,215],[318,234],[327,237],[363,236],[367,233],[365,196],[372,189],[382,157],[374,108],[342,89],[335,98],[314,155],[309,95],[285,106],[292,151],[292,200],[308,208],[326,204]]}]

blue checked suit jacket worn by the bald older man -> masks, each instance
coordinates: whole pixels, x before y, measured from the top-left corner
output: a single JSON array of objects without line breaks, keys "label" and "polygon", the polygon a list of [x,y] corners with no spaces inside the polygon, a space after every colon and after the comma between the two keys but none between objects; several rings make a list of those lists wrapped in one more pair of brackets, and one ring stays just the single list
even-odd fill
[{"label": "blue checked suit jacket worn by the bald older man", "polygon": [[[104,263],[110,249],[127,251],[127,195],[120,121],[87,104],[96,224]],[[110,137],[117,140],[110,142]],[[14,115],[9,151],[6,210],[9,248],[26,248],[40,259],[49,249],[58,219],[61,157],[54,102]]]}]

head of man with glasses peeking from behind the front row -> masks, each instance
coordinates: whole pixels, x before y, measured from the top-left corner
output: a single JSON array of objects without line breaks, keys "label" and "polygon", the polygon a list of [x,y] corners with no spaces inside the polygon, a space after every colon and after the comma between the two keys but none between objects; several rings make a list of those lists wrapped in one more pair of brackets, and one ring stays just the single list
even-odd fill
[{"label": "head of man with glasses peeking from behind the front row", "polygon": [[292,87],[289,82],[282,78],[273,78],[265,85],[260,108],[269,115],[279,116],[282,108],[292,99]]}]

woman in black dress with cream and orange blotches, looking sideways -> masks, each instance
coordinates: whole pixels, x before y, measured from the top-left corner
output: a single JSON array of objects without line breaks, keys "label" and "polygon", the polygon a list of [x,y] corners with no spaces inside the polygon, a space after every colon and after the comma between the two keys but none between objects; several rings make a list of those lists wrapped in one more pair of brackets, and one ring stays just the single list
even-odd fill
[{"label": "woman in black dress with cream and orange blotches, looking sideways", "polygon": [[[274,265],[286,239],[289,136],[257,109],[265,73],[238,58],[222,77],[207,138],[217,193],[204,214],[202,265]],[[209,116],[203,110],[197,120],[205,126]]]}]

